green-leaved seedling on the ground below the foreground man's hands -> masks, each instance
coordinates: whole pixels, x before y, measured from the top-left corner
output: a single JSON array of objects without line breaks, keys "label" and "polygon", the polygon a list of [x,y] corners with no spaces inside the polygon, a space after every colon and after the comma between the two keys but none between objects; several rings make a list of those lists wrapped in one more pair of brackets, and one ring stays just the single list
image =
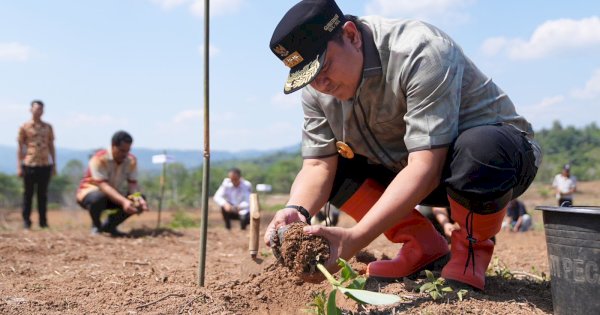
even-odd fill
[{"label": "green-leaved seedling on the ground below the foreground man's hands", "polygon": [[342,314],[335,301],[337,291],[342,292],[359,304],[388,305],[400,302],[400,297],[396,295],[365,290],[364,287],[367,280],[364,277],[359,277],[358,273],[344,259],[338,258],[337,263],[342,268],[339,280],[335,279],[325,266],[317,264],[317,268],[323,273],[333,288],[329,294],[321,291],[313,295],[313,302],[309,306],[315,308],[315,313],[319,315]]}]

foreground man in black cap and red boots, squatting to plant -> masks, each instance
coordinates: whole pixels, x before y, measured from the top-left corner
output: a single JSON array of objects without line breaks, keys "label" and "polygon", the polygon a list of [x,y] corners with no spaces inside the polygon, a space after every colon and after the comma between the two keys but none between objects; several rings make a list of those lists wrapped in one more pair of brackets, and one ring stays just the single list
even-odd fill
[{"label": "foreground man in black cap and red boots, squatting to plant", "polygon": [[[404,244],[395,258],[369,263],[369,277],[409,276],[451,252],[442,276],[484,289],[490,238],[541,160],[509,97],[438,28],[344,15],[333,0],[292,7],[270,49],[290,68],[284,93],[301,89],[304,161],[265,243],[329,201],[357,221],[305,228],[329,241],[330,271],[383,233]],[[419,204],[450,208],[460,226],[450,250]]]}]

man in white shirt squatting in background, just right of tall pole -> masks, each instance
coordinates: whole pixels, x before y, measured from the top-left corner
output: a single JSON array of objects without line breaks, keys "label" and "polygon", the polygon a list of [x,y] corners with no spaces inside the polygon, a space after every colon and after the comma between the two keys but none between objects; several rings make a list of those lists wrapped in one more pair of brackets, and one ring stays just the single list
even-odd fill
[{"label": "man in white shirt squatting in background, just right of tall pole", "polygon": [[250,193],[252,184],[242,178],[242,171],[232,168],[213,199],[221,206],[225,228],[231,229],[231,220],[240,220],[242,230],[250,223]]}]

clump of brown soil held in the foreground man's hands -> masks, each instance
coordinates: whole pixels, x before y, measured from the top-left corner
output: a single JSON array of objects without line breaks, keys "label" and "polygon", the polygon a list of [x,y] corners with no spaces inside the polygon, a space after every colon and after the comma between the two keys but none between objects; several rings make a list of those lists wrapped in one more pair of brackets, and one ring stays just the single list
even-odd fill
[{"label": "clump of brown soil held in the foreground man's hands", "polygon": [[279,251],[280,262],[297,275],[317,272],[317,264],[329,259],[327,239],[317,235],[307,235],[302,231],[304,222],[294,222],[286,226]]}]

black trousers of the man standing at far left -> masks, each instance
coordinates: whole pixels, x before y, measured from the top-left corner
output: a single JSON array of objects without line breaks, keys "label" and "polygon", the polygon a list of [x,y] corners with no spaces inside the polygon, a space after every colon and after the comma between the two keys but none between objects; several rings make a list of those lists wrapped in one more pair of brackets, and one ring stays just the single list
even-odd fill
[{"label": "black trousers of the man standing at far left", "polygon": [[[52,174],[52,166],[23,166],[23,221],[26,227],[31,226],[31,204],[33,194],[37,195],[40,226],[48,226],[46,211],[48,209],[48,184]],[[36,191],[37,190],[37,191]]]}]

